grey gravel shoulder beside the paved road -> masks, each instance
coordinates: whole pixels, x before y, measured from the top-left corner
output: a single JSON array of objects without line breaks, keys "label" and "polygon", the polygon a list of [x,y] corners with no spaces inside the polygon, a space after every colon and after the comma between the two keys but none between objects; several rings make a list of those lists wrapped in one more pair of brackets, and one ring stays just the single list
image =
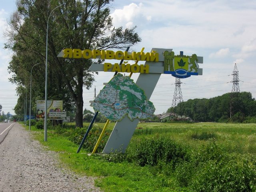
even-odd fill
[{"label": "grey gravel shoulder beside the paved road", "polygon": [[94,179],[61,168],[58,154],[18,123],[0,144],[0,192],[100,192]]}]

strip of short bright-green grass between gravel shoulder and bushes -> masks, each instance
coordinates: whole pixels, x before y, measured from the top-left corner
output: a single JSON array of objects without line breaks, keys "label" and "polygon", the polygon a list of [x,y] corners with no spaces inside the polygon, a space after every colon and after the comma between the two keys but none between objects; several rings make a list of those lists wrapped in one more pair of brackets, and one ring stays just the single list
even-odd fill
[{"label": "strip of short bright-green grass between gravel shoulder and bushes", "polygon": [[[28,128],[27,128],[28,129]],[[76,153],[78,145],[68,140],[70,130],[56,134],[48,130],[47,142],[44,142],[44,130],[31,126],[32,135],[48,150],[59,154],[60,165],[77,174],[97,176],[95,185],[104,192],[180,192],[172,177],[159,174],[151,166],[138,166],[134,163],[108,162],[98,155],[88,156],[84,149]],[[186,189],[184,190],[186,191]]]}]

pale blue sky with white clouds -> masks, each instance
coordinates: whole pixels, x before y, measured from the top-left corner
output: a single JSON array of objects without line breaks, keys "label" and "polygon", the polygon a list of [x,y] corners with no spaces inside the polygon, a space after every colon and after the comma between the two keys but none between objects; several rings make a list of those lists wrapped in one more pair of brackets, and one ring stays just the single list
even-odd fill
[{"label": "pale blue sky with white clouds", "polygon": [[[14,114],[17,103],[16,85],[8,81],[8,63],[12,53],[4,50],[6,20],[16,10],[15,0],[0,0],[0,104],[2,111]],[[151,48],[170,48],[175,54],[197,54],[204,58],[199,64],[202,76],[181,79],[184,101],[213,98],[232,91],[235,63],[239,72],[240,92],[251,92],[256,98],[256,0],[116,0],[110,4],[114,26],[131,28],[142,41],[130,50],[150,52]],[[128,74],[127,74],[128,75]],[[94,111],[90,100],[113,76],[99,72],[90,90],[84,89],[84,109]],[[136,82],[138,74],[133,74]],[[150,101],[155,114],[172,106],[175,78],[162,74]]]}]

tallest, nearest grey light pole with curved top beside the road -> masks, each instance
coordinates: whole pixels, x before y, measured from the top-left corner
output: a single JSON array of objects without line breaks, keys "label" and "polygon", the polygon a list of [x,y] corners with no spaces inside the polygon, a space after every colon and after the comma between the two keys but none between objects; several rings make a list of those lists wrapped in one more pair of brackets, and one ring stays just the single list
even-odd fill
[{"label": "tallest, nearest grey light pole with curved top beside the road", "polygon": [[[56,8],[60,7],[57,6]],[[52,12],[56,9],[54,8]],[[47,30],[46,30],[46,58],[45,58],[45,106],[44,106],[44,141],[47,141],[47,64],[48,64],[48,23],[50,16],[52,14],[50,12],[50,15],[47,20]]]}]

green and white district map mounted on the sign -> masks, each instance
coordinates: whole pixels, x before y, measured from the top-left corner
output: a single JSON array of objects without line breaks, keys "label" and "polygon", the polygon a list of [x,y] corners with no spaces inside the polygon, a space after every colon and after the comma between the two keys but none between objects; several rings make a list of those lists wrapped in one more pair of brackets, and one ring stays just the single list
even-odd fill
[{"label": "green and white district map mounted on the sign", "polygon": [[126,114],[130,120],[149,118],[155,112],[152,102],[134,81],[118,73],[108,83],[104,83],[98,96],[90,101],[90,106],[109,120],[121,120]]}]

